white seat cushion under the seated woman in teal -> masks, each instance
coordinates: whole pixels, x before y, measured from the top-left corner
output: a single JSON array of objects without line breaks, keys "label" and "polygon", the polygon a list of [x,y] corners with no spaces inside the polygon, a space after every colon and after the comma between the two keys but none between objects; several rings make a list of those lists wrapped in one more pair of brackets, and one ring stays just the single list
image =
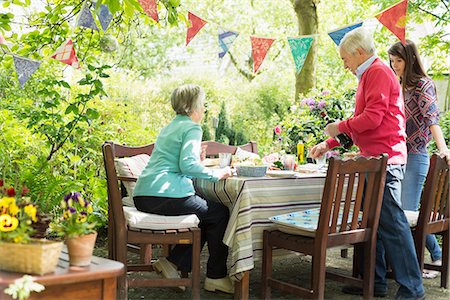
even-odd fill
[{"label": "white seat cushion under the seated woman in teal", "polygon": [[198,227],[200,220],[194,214],[164,216],[138,211],[135,207],[123,207],[125,220],[129,227],[150,230],[187,229]]}]

